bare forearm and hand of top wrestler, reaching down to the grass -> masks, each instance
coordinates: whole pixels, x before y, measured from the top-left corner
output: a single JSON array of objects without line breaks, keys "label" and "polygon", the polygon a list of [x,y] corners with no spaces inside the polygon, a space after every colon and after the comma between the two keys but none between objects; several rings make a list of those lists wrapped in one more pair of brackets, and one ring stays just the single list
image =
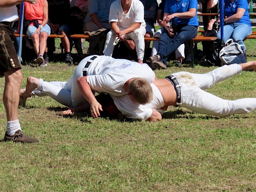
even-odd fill
[{"label": "bare forearm and hand of top wrestler, reaching down to the grass", "polygon": [[78,88],[79,88],[82,96],[91,105],[91,116],[96,117],[96,118],[99,117],[100,116],[99,111],[103,111],[102,106],[95,98],[95,96],[91,90],[91,87],[90,87],[89,83],[87,82],[87,76],[78,78],[77,84],[78,84]]}]

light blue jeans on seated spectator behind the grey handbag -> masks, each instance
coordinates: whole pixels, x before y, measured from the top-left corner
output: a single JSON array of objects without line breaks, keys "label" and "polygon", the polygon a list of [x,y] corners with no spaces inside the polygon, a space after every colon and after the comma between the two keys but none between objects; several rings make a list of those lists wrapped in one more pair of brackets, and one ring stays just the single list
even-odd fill
[{"label": "light blue jeans on seated spectator behind the grey handbag", "polygon": [[[225,25],[223,27],[223,41],[226,42],[227,39],[231,38],[234,41],[238,41],[239,44],[244,45],[244,38],[250,35],[252,32],[251,27],[246,24],[232,23]],[[217,34],[218,39],[221,39],[221,32]]]}]

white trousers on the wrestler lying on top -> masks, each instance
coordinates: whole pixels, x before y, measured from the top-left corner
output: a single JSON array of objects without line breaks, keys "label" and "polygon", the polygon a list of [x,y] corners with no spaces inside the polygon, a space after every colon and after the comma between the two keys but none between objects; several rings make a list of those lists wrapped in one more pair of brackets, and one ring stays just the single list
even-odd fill
[{"label": "white trousers on the wrestler lying on top", "polygon": [[37,89],[33,91],[34,95],[42,96],[48,95],[57,102],[75,108],[79,104],[85,103],[86,99],[81,95],[77,86],[77,79],[83,76],[83,68],[89,57],[84,58],[75,69],[72,77],[68,81],[52,81],[47,82],[42,79],[39,80]]}]

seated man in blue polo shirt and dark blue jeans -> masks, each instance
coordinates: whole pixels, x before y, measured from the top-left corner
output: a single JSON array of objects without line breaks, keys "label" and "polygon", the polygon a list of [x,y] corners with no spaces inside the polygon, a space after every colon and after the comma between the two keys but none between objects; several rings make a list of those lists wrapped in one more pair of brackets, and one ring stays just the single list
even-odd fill
[{"label": "seated man in blue polo shirt and dark blue jeans", "polygon": [[166,0],[163,21],[165,29],[159,39],[159,51],[150,57],[154,69],[166,68],[168,56],[197,36],[197,0]]}]

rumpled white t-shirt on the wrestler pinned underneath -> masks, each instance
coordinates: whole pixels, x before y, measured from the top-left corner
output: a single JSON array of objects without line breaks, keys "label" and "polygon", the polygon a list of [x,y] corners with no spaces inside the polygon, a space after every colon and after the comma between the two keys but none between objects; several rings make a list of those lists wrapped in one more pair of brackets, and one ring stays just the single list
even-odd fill
[{"label": "rumpled white t-shirt on the wrestler pinned underneath", "polygon": [[161,109],[164,106],[162,94],[155,84],[151,84],[151,87],[153,89],[154,97],[151,103],[145,105],[133,102],[129,95],[111,97],[113,98],[117,109],[127,118],[146,120],[152,115],[153,109],[157,110],[161,114],[164,113],[164,111]]}]

